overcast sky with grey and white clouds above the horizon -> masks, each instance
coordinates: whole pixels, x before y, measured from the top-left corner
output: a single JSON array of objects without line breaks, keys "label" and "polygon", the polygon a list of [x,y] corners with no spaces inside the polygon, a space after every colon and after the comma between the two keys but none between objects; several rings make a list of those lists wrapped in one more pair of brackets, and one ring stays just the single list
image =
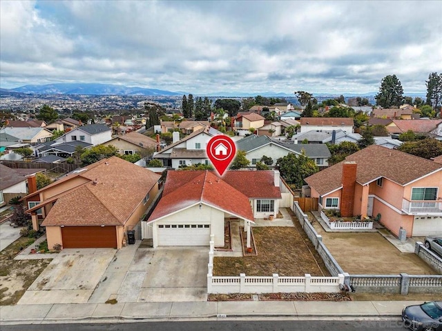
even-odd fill
[{"label": "overcast sky with grey and white clouds above the horizon", "polygon": [[442,1],[0,1],[0,86],[364,93],[442,72]]}]

